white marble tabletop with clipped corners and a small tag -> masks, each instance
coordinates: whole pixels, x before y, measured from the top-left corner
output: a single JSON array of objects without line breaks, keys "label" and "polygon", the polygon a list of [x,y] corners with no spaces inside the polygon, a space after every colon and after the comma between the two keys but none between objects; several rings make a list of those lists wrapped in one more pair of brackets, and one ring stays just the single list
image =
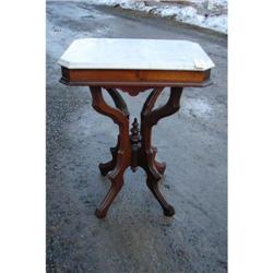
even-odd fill
[{"label": "white marble tabletop with clipped corners and a small tag", "polygon": [[76,39],[58,63],[69,69],[204,71],[214,67],[199,44],[176,39]]}]

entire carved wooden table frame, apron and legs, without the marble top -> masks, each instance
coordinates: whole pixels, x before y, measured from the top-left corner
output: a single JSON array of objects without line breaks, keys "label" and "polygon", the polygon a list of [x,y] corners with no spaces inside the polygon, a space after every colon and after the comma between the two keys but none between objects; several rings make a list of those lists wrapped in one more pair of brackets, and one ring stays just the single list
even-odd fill
[{"label": "entire carved wooden table frame, apron and legs, without the marble top", "polygon": [[[106,216],[114,199],[123,186],[123,174],[128,167],[133,171],[140,166],[146,173],[146,185],[159,202],[164,214],[173,216],[175,209],[165,200],[158,189],[166,164],[155,159],[156,147],[152,145],[152,129],[165,117],[177,112],[185,86],[203,87],[211,84],[210,70],[206,71],[149,71],[149,70],[81,70],[62,67],[62,83],[75,86],[88,86],[96,111],[112,119],[119,127],[117,145],[110,149],[112,158],[99,164],[103,176],[108,175],[110,189],[95,211],[98,218]],[[170,87],[167,103],[154,109],[157,97],[164,87]],[[103,96],[105,88],[111,96],[115,107],[109,106]],[[126,102],[118,92],[136,96],[140,92],[152,90],[142,111],[141,123],[135,118],[130,130],[130,114]]]}]

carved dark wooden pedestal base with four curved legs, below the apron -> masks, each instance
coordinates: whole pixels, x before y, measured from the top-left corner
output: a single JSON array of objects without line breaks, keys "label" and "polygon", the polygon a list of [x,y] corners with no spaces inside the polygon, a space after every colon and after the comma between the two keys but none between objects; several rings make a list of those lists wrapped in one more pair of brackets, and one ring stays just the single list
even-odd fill
[{"label": "carved dark wooden pedestal base with four curved legs, below the apron", "polygon": [[[141,127],[139,128],[138,119],[134,118],[130,131],[129,111],[126,102],[118,91],[116,88],[106,88],[115,103],[116,108],[114,108],[106,104],[103,97],[102,87],[90,86],[90,88],[94,109],[110,117],[114,122],[119,126],[117,145],[110,149],[112,159],[107,163],[100,163],[98,166],[103,176],[108,175],[111,187],[103,202],[96,209],[96,216],[98,218],[106,216],[111,202],[123,186],[124,170],[131,167],[132,171],[135,171],[139,166],[145,170],[147,176],[146,185],[163,207],[164,214],[166,216],[173,216],[175,214],[175,209],[168,204],[158,189],[158,181],[162,179],[166,164],[155,159],[157,150],[152,146],[152,128],[159,119],[179,110],[182,87],[171,87],[167,103],[156,109],[153,108],[163,87],[153,88],[141,111]],[[119,88],[123,92],[128,92],[130,95],[138,95],[139,92],[151,87]]]}]

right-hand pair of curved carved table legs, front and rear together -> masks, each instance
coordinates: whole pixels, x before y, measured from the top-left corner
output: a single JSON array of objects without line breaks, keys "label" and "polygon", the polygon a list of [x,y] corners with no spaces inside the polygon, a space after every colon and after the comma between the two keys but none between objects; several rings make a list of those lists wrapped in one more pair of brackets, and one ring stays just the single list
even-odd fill
[{"label": "right-hand pair of curved carved table legs, front and rear together", "polygon": [[168,102],[153,110],[154,104],[161,94],[162,90],[155,88],[147,97],[143,109],[141,111],[141,166],[147,174],[147,187],[153,192],[157,201],[163,207],[166,216],[173,216],[175,214],[174,207],[167,203],[162,193],[158,190],[158,181],[164,173],[165,165],[155,161],[156,149],[152,146],[152,128],[159,119],[170,116],[180,108],[180,96],[182,94],[182,87],[173,87],[170,90],[170,96]]}]

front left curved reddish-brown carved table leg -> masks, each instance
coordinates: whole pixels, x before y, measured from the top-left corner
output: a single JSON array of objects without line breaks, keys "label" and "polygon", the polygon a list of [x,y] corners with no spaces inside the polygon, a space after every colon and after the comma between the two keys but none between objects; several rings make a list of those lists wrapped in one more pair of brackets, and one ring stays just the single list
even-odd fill
[{"label": "front left curved reddish-brown carved table leg", "polygon": [[[111,187],[106,194],[104,201],[96,209],[96,216],[103,218],[106,216],[109,206],[111,205],[114,199],[123,186],[123,173],[128,166],[130,166],[131,151],[130,151],[130,140],[129,140],[129,120],[127,115],[119,108],[112,108],[107,105],[102,93],[100,87],[90,86],[94,109],[105,116],[108,116],[114,120],[115,123],[119,126],[119,136],[117,145],[117,156],[115,156],[115,167],[112,171],[108,175]],[[116,103],[115,103],[116,104]]]}]

